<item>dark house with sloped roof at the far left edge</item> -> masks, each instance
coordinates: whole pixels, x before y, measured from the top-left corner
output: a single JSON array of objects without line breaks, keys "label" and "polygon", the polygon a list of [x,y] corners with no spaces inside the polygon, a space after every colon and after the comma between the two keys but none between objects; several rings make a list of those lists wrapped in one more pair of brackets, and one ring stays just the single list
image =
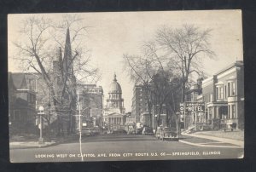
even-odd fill
[{"label": "dark house with sloped roof at the far left edge", "polygon": [[9,79],[9,131],[10,135],[35,133],[36,93],[22,73],[11,73]]}]

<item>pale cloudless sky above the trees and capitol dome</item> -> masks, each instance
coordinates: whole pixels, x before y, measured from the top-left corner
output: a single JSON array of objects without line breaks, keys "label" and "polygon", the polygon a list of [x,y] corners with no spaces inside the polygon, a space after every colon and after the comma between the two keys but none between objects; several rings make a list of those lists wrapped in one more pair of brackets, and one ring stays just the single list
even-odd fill
[{"label": "pale cloudless sky above the trees and capitol dome", "polygon": [[[14,43],[20,38],[20,22],[32,15],[61,20],[63,14],[9,14],[8,56],[9,72],[22,72],[12,58]],[[79,13],[88,28],[86,47],[90,49],[91,63],[98,66],[102,79],[97,83],[108,97],[108,87],[114,72],[123,91],[126,112],[131,112],[134,83],[124,71],[123,54],[141,54],[140,47],[155,36],[161,26],[177,28],[184,24],[212,29],[211,49],[216,60],[202,60],[204,71],[212,75],[236,60],[243,60],[241,10],[158,11],[158,12],[104,12]],[[105,102],[106,103],[106,102]]]}]

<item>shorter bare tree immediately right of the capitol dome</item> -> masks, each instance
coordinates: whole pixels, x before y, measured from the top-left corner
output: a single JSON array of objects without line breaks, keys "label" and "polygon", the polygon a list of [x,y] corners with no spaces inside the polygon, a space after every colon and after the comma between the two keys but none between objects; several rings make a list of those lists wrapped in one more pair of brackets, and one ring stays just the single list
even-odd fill
[{"label": "shorter bare tree immediately right of the capitol dome", "polygon": [[[166,65],[168,59],[158,54],[154,42],[148,42],[143,44],[143,56],[125,54],[124,60],[125,69],[129,73],[131,81],[136,84],[140,83],[146,92],[151,125],[153,106],[157,107],[157,126],[159,126],[163,106],[168,106],[173,113],[173,100],[170,101],[170,97],[178,89],[177,85],[174,87],[171,83],[171,77],[174,76],[170,66]],[[168,112],[168,115],[171,116],[172,113]],[[168,120],[166,122],[168,123]]]}]

